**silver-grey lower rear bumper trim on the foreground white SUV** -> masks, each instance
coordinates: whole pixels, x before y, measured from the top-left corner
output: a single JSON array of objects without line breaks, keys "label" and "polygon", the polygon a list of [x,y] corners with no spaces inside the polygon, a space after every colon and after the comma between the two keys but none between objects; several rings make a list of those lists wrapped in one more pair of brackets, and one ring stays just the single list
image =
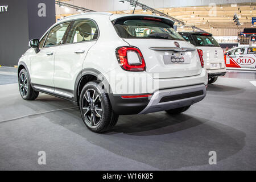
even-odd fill
[{"label": "silver-grey lower rear bumper trim on the foreground white SUV", "polygon": [[[199,96],[193,96],[193,94],[191,94],[197,91],[203,91],[203,92],[201,92],[202,94]],[[168,101],[168,102],[160,102],[164,97],[180,96],[181,94],[188,94],[188,96],[189,94],[191,94],[192,97],[181,98],[179,100]],[[179,107],[192,105],[192,104],[195,104],[196,102],[203,100],[205,96],[206,96],[206,88],[204,84],[185,86],[185,87],[174,88],[174,89],[158,90],[153,94],[150,102],[145,107],[145,109],[143,109],[139,114],[154,113],[158,111],[176,109]]]}]

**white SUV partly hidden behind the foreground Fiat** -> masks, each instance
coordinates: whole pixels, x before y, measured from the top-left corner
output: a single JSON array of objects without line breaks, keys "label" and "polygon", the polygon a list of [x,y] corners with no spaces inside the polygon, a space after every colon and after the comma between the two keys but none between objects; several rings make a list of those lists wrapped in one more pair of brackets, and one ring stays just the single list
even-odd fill
[{"label": "white SUV partly hidden behind the foreground Fiat", "polygon": [[218,76],[226,74],[224,52],[212,34],[207,32],[179,32],[189,43],[201,50],[204,68],[208,72],[208,84],[212,84]]}]

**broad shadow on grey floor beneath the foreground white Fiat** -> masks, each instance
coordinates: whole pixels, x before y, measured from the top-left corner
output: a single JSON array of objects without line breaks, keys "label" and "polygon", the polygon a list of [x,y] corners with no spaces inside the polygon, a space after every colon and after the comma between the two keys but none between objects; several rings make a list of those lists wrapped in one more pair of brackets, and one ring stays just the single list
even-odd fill
[{"label": "broad shadow on grey floor beneath the foreground white Fiat", "polygon": [[222,121],[189,114],[124,115],[105,134],[86,129],[77,109],[49,113],[47,117],[104,150],[163,170],[209,165],[209,151],[217,152],[218,163],[245,146],[243,132]]}]

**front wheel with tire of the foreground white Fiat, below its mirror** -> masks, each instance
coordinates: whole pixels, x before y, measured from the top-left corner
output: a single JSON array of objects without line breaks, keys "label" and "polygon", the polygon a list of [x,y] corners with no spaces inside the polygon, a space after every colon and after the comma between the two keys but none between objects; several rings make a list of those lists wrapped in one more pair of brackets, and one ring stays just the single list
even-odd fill
[{"label": "front wheel with tire of the foreground white Fiat, below its mirror", "polygon": [[26,69],[22,69],[19,72],[19,77],[18,77],[18,83],[19,83],[19,93],[20,96],[24,100],[35,100],[38,98],[39,92],[35,91],[30,83],[30,78],[29,75],[27,74]]}]

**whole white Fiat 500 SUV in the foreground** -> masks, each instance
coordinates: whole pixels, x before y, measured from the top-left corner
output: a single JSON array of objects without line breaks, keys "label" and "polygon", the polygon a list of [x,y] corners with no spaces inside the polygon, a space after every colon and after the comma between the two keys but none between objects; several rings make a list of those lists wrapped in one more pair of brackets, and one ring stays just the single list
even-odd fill
[{"label": "whole white Fiat 500 SUV in the foreground", "polygon": [[208,76],[197,49],[151,15],[86,13],[55,23],[18,65],[24,100],[39,92],[75,102],[92,131],[118,115],[181,113],[203,100]]}]

